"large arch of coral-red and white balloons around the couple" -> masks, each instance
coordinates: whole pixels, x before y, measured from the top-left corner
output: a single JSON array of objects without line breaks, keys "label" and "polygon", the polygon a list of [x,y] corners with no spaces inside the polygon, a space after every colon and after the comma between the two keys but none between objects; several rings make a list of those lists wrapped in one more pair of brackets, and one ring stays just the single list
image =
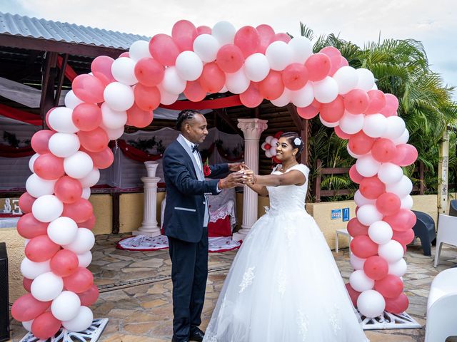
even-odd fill
[{"label": "large arch of coral-red and white balloons around the couple", "polygon": [[358,209],[348,222],[355,271],[346,285],[353,304],[367,317],[407,309],[403,254],[416,217],[412,183],[401,167],[411,165],[417,151],[406,143],[398,100],[377,90],[371,71],[348,66],[333,47],[313,53],[308,38],[290,38],[268,25],[236,31],[226,21],[196,28],[184,20],[171,36],[136,41],[116,60],[95,58],[91,71],[74,79],[64,107],[49,110],[49,130],[31,139],[34,173],[20,198],[26,214],[17,227],[29,239],[21,264],[29,294],[11,314],[36,337],[49,338],[61,326],[90,326],[89,306],[99,295],[86,269],[94,245],[90,187],[99,169],[113,162],[109,140],[121,137],[124,125],[149,125],[153,110],[180,93],[197,102],[229,91],[249,108],[267,99],[276,106],[293,103],[305,119],[320,113],[356,158],[349,173],[360,185]]}]

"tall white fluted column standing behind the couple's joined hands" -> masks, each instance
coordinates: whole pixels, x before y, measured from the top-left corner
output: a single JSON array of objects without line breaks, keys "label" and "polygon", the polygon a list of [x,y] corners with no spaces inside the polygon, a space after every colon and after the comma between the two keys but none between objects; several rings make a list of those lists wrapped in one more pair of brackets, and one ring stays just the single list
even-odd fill
[{"label": "tall white fluted column standing behind the couple's joined hands", "polygon": [[[244,162],[251,170],[258,173],[258,140],[261,133],[266,130],[267,120],[238,119],[238,128],[244,135]],[[258,195],[248,187],[243,192],[243,223],[241,229],[233,234],[233,240],[240,241],[246,237],[254,222],[257,221]]]}]

